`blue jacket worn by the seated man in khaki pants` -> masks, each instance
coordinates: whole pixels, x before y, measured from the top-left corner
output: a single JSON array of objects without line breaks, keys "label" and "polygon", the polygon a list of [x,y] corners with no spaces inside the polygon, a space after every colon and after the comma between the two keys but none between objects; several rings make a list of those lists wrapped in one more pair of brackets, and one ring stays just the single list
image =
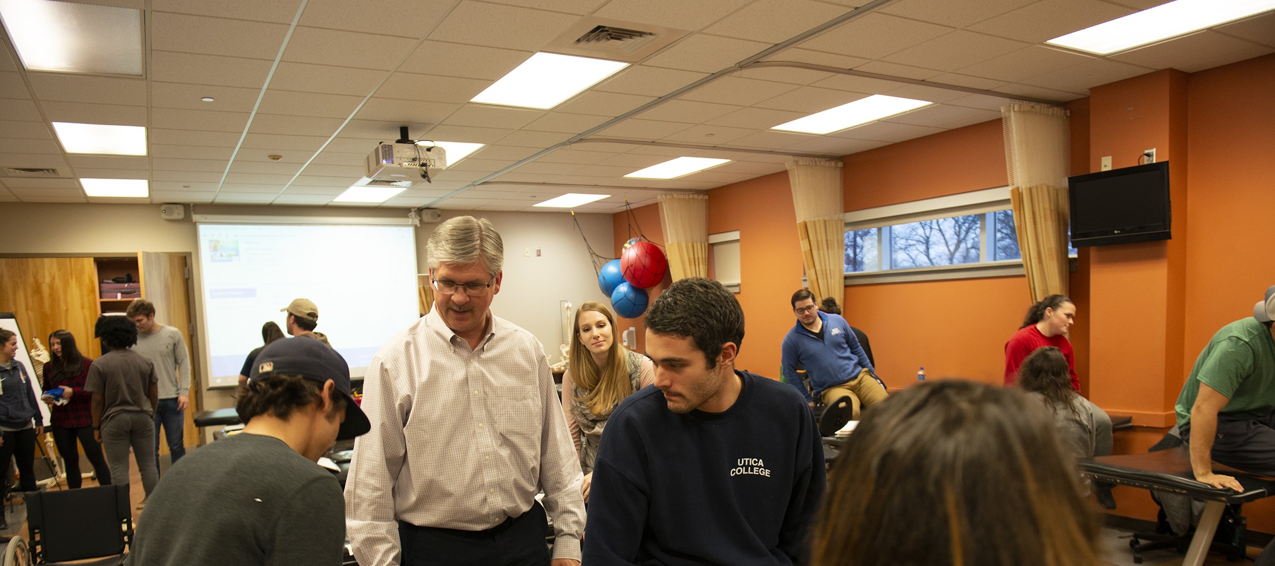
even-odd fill
[{"label": "blue jacket worn by the seated man in khaki pants", "polygon": [[[802,328],[798,320],[784,337],[783,356],[780,357],[784,381],[796,386],[806,402],[813,399],[801,382],[801,377],[797,376],[798,365],[806,368],[806,377],[810,379],[810,386],[816,395],[825,389],[858,377],[863,370],[876,372],[868,356],[863,353],[858,338],[854,338],[854,333],[850,331],[850,324],[841,315],[816,312],[824,320],[824,339],[820,340],[810,330]],[[884,388],[885,384],[882,382],[881,386]]]}]

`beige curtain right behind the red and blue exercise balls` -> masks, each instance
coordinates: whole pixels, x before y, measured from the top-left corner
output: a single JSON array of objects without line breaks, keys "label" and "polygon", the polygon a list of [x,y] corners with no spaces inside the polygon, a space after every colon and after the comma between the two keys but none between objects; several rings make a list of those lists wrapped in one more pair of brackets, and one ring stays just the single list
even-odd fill
[{"label": "beige curtain right behind the red and blue exercise balls", "polygon": [[709,277],[709,198],[696,194],[659,195],[659,223],[673,280]]}]

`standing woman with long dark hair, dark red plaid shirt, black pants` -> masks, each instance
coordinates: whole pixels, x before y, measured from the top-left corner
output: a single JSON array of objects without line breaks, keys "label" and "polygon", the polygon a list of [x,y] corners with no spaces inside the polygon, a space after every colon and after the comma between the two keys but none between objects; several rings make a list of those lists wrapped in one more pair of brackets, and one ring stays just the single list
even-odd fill
[{"label": "standing woman with long dark hair, dark red plaid shirt, black pants", "polygon": [[66,404],[59,405],[54,400],[45,398],[51,410],[52,426],[48,430],[54,433],[54,444],[57,453],[62,455],[66,467],[66,487],[75,490],[80,487],[79,449],[75,441],[84,445],[84,455],[93,464],[97,473],[97,482],[102,486],[111,483],[111,468],[102,458],[102,446],[93,440],[93,414],[91,399],[93,394],[84,391],[84,380],[88,379],[88,366],[93,362],[80,354],[75,347],[75,337],[66,330],[56,330],[48,335],[48,352],[52,354],[45,365],[45,391],[54,388],[62,388],[62,399]]}]

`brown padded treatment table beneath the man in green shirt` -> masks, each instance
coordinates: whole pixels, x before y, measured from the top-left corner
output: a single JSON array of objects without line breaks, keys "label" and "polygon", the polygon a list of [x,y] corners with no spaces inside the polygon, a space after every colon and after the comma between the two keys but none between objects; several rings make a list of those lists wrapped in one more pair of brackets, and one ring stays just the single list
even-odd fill
[{"label": "brown padded treatment table beneath the man in green shirt", "polygon": [[1191,455],[1186,446],[1146,454],[1100,456],[1080,463],[1080,474],[1095,482],[1117,483],[1204,500],[1204,515],[1191,538],[1183,566],[1200,566],[1213,544],[1214,532],[1227,505],[1247,504],[1275,495],[1275,478],[1250,474],[1218,463],[1215,473],[1233,475],[1244,491],[1218,490],[1195,481]]}]

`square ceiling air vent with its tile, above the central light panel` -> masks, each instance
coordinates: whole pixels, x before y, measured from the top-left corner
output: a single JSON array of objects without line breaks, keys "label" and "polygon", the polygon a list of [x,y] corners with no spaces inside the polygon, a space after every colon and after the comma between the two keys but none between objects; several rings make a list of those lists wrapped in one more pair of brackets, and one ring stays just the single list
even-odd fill
[{"label": "square ceiling air vent with its tile, above the central light panel", "polygon": [[543,51],[638,62],[690,33],[609,18],[584,17]]}]

